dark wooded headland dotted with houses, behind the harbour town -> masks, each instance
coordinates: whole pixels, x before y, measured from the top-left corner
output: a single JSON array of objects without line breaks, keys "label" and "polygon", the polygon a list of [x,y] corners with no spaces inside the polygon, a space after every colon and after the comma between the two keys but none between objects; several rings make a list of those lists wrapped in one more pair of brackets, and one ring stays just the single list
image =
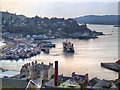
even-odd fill
[{"label": "dark wooded headland dotted with houses, behind the harbour town", "polygon": [[50,37],[71,37],[76,35],[97,36],[102,35],[102,32],[90,30],[87,25],[79,25],[72,18],[41,18],[35,16],[28,18],[24,15],[16,15],[13,13],[2,12],[3,32],[21,33],[26,35],[40,35],[44,34]]}]

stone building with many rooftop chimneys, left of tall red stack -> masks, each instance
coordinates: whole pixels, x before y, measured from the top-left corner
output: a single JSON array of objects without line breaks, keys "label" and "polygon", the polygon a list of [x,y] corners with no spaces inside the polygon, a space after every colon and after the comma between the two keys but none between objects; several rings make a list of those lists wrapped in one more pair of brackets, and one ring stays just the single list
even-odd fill
[{"label": "stone building with many rooftop chimneys, left of tall red stack", "polygon": [[20,78],[24,77],[26,79],[35,80],[38,78],[50,79],[54,74],[53,63],[45,65],[43,62],[37,63],[37,61],[32,62],[32,64],[27,63],[22,66],[20,71]]}]

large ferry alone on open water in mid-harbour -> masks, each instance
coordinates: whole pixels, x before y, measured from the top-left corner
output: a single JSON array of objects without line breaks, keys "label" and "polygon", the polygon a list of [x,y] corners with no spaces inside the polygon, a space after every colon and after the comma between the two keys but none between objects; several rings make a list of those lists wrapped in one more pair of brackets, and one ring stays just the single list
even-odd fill
[{"label": "large ferry alone on open water in mid-harbour", "polygon": [[67,52],[67,53],[74,53],[74,46],[73,46],[73,43],[71,42],[63,42],[63,51],[64,52]]}]

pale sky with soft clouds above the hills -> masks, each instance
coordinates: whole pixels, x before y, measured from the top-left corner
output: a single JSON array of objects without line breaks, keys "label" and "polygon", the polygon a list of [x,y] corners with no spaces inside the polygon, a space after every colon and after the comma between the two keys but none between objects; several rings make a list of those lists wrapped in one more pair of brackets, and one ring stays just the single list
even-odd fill
[{"label": "pale sky with soft clouds above the hills", "polygon": [[0,0],[0,10],[28,17],[117,15],[119,0]]}]

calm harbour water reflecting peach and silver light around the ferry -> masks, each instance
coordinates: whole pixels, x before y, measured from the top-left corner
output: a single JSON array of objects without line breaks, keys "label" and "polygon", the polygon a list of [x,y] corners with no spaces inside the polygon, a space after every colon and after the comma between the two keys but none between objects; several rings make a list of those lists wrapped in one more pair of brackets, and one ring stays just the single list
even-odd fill
[{"label": "calm harbour water reflecting peach and silver light around the ferry", "polygon": [[67,39],[74,43],[74,54],[63,53],[62,42],[66,39],[54,39],[52,42],[56,44],[56,48],[52,48],[50,54],[41,53],[31,59],[20,59],[18,61],[1,60],[0,67],[19,71],[23,64],[34,60],[46,64],[58,60],[59,74],[70,76],[72,72],[88,73],[90,78],[116,79],[118,74],[102,68],[100,63],[118,60],[118,27],[112,25],[88,25],[88,28],[109,35],[90,40]]}]

